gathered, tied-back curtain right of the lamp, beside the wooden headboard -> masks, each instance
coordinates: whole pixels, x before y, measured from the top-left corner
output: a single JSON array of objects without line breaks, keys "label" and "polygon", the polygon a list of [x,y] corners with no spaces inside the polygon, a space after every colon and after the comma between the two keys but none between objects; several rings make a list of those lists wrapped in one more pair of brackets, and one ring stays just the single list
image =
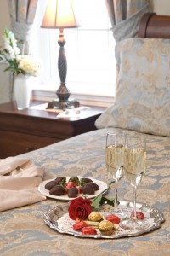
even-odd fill
[{"label": "gathered, tied-back curtain right of the lamp, beside the wooden headboard", "polygon": [[150,12],[147,0],[105,0],[116,42],[138,35],[139,20]]}]

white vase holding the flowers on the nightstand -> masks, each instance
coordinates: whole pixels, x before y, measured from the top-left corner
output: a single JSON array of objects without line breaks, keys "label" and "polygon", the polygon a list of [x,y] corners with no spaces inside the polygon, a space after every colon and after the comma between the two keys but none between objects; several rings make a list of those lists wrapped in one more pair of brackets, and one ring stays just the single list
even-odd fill
[{"label": "white vase holding the flowers on the nightstand", "polygon": [[19,110],[29,108],[31,100],[31,76],[14,75],[14,98]]}]

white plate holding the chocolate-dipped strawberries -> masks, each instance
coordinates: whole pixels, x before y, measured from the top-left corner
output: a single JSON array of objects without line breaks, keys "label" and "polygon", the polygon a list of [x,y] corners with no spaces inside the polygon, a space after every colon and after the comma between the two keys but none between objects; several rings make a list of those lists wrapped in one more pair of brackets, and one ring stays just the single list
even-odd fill
[{"label": "white plate holding the chocolate-dipped strawberries", "polygon": [[[66,177],[66,181],[67,181],[67,182],[68,182],[69,178],[70,178],[70,177]],[[82,177],[79,177],[79,176],[78,176],[78,178],[80,179],[80,178],[82,178]],[[99,180],[97,180],[97,179],[95,179],[95,178],[93,178],[93,177],[88,177],[88,178],[90,178],[94,183],[98,184],[99,190],[95,191],[95,194],[94,194],[94,195],[88,195],[88,194],[84,195],[84,194],[81,193],[81,194],[78,194],[78,196],[81,196],[81,195],[82,195],[82,196],[86,196],[87,198],[94,198],[96,195],[99,195],[101,192],[103,192],[105,189],[107,189],[107,184],[106,184],[106,183],[104,183],[104,182],[102,182],[102,181],[99,181]],[[42,193],[42,195],[45,195],[45,196],[48,196],[48,197],[54,198],[54,199],[63,200],[63,201],[71,201],[71,200],[75,199],[75,198],[69,198],[68,195],[66,195],[66,194],[65,194],[65,195],[50,195],[50,194],[49,194],[49,190],[48,190],[48,189],[45,189],[45,185],[46,185],[48,182],[50,182],[51,180],[54,180],[54,178],[53,178],[53,179],[50,179],[50,180],[46,180],[46,181],[42,182],[42,183],[39,185],[38,191],[39,191],[40,193]]]}]

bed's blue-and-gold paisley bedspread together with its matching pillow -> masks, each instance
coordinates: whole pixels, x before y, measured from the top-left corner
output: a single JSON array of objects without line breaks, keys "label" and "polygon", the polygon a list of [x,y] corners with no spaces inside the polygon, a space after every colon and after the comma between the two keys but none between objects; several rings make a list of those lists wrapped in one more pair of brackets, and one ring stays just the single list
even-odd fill
[{"label": "bed's blue-and-gold paisley bedspread together with its matching pillow", "polygon": [[[148,19],[144,19],[147,20],[147,25]],[[147,141],[147,171],[143,182],[139,185],[137,201],[161,212],[160,225],[139,236],[117,239],[94,239],[61,234],[44,223],[44,214],[55,207],[64,206],[66,202],[48,197],[28,206],[0,212],[2,256],[88,255],[89,253],[94,256],[169,255],[170,57],[167,54],[169,52],[169,39],[129,38],[126,42],[118,44],[116,59],[119,76],[116,103],[96,121],[98,130],[16,157],[32,160],[35,165],[43,166],[46,172],[50,172],[54,177],[85,176],[108,183],[105,167],[107,132],[123,130],[127,135],[144,136]],[[130,61],[127,55],[131,55]],[[153,68],[152,75],[148,72],[151,68]],[[110,189],[105,196],[113,197],[113,189]],[[133,201],[132,187],[124,177],[119,186],[119,197],[122,201]]]}]

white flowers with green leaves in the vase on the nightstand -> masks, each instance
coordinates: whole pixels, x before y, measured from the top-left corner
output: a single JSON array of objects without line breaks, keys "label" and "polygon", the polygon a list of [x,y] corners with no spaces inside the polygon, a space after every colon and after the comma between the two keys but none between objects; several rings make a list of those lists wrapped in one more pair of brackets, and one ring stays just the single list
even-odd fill
[{"label": "white flowers with green leaves in the vase on the nightstand", "polygon": [[0,63],[8,64],[4,71],[11,71],[15,75],[37,76],[39,73],[39,61],[32,55],[20,55],[17,40],[14,33],[3,29],[4,49],[0,49]]}]

